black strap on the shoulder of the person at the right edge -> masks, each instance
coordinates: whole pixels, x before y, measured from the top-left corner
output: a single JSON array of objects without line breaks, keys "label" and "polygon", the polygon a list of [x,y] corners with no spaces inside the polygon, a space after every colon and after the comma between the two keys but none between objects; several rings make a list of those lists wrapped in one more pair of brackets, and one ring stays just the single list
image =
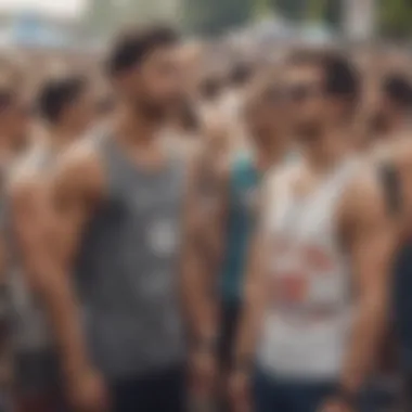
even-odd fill
[{"label": "black strap on the shoulder of the person at the right edge", "polygon": [[383,163],[378,166],[378,178],[384,190],[385,202],[389,215],[398,216],[403,208],[399,170],[391,163]]}]

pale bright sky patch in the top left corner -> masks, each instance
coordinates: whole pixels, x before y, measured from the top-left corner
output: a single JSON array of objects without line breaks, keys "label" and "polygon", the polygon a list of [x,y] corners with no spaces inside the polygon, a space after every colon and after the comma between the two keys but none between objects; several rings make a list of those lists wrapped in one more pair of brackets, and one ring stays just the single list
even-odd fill
[{"label": "pale bright sky patch in the top left corner", "polygon": [[87,0],[0,0],[0,12],[30,10],[41,13],[73,16],[81,13]]}]

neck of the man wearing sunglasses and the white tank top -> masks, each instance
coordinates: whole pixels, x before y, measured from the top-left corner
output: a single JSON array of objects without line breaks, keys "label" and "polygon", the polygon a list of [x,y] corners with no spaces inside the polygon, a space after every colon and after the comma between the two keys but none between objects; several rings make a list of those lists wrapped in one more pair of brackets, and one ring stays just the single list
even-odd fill
[{"label": "neck of the man wearing sunglasses and the white tank top", "polygon": [[312,170],[327,172],[346,154],[342,132],[327,132],[305,147],[305,158]]}]

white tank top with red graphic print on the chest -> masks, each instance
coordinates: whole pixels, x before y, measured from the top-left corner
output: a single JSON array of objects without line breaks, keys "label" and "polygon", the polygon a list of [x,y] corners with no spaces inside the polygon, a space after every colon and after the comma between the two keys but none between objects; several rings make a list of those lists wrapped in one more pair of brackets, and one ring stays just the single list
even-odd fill
[{"label": "white tank top with red graphic print on the chest", "polygon": [[351,323],[351,270],[336,213],[357,162],[345,160],[312,192],[293,185],[300,165],[268,179],[271,257],[259,364],[280,377],[334,379]]}]

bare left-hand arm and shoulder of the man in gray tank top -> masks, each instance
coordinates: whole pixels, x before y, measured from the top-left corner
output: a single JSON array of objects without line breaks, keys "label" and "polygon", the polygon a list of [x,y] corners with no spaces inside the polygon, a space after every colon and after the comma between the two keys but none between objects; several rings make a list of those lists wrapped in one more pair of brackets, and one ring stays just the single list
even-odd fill
[{"label": "bare left-hand arm and shoulder of the man in gray tank top", "polygon": [[56,253],[56,245],[63,244],[56,232],[63,220],[56,222],[53,201],[62,199],[64,193],[65,208],[59,213],[65,224],[78,228],[82,223],[86,214],[81,209],[82,192],[76,170],[72,163],[64,164],[50,184],[29,180],[12,188],[13,227],[24,273],[50,319],[67,377],[80,373],[88,360],[72,278]]}]

